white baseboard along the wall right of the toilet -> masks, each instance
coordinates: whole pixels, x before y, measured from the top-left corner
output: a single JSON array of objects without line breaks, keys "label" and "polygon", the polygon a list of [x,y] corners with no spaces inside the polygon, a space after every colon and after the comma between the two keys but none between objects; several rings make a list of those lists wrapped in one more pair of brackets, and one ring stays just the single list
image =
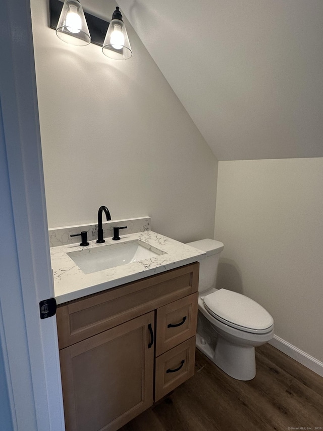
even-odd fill
[{"label": "white baseboard along the wall right of the toilet", "polygon": [[323,362],[318,361],[277,335],[274,335],[274,338],[268,343],[276,347],[276,349],[280,350],[281,352],[285,353],[290,358],[295,359],[295,361],[323,377]]}]

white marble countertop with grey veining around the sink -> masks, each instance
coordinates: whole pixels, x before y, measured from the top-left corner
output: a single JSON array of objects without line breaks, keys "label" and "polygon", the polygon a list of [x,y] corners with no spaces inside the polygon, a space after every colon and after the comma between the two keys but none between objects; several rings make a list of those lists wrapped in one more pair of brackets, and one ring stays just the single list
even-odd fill
[{"label": "white marble countertop with grey veining around the sink", "polygon": [[112,241],[112,238],[105,238],[104,244],[90,241],[90,245],[87,247],[81,247],[79,244],[52,247],[50,258],[57,303],[63,304],[86,295],[115,288],[121,284],[178,268],[196,262],[201,255],[205,254],[151,230],[123,235],[117,243],[123,244],[138,240],[145,243],[147,248],[157,249],[164,254],[90,274],[85,274],[67,253],[102,246],[115,246],[116,241]]}]

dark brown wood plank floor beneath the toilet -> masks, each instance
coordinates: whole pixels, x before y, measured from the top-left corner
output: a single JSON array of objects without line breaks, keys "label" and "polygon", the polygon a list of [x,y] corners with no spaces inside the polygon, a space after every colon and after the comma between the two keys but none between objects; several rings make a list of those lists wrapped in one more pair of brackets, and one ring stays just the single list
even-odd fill
[{"label": "dark brown wood plank floor beneath the toilet", "polygon": [[323,377],[268,344],[256,366],[235,380],[196,350],[195,375],[120,431],[323,430]]}]

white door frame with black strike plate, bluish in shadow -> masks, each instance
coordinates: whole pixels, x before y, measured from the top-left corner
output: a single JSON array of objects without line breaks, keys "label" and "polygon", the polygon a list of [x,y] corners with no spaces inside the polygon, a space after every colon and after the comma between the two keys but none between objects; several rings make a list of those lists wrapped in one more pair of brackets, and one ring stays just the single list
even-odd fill
[{"label": "white door frame with black strike plate, bluish in shadow", "polygon": [[64,431],[56,317],[40,320],[38,305],[53,281],[30,1],[3,0],[0,28],[0,349],[12,429]]}]

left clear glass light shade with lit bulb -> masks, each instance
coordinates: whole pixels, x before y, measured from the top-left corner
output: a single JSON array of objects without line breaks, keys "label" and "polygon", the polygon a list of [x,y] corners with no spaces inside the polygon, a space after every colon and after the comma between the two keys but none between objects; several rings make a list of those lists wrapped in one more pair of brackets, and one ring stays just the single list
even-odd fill
[{"label": "left clear glass light shade with lit bulb", "polygon": [[77,46],[91,42],[83,8],[77,0],[65,0],[56,28],[56,34],[64,42]]}]

